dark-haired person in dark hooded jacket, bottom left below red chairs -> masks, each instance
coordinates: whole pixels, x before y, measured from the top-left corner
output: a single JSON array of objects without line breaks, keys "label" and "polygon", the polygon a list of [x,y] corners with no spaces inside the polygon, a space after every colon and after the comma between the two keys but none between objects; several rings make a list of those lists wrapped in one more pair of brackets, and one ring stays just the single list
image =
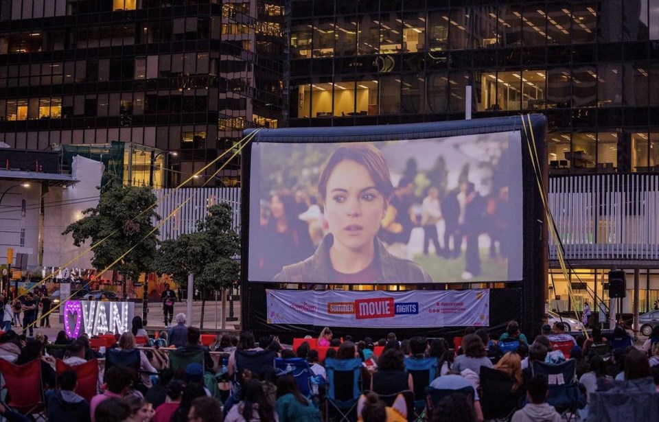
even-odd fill
[{"label": "dark-haired person in dark hooded jacket, bottom left below red chairs", "polygon": [[58,377],[60,390],[48,401],[49,422],[90,422],[89,403],[73,390],[78,385],[78,376],[67,369]]}]

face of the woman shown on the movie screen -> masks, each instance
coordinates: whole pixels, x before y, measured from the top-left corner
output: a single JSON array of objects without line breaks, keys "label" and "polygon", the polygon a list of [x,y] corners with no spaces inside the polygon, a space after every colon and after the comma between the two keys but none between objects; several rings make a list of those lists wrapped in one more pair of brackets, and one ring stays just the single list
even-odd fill
[{"label": "face of the woman shown on the movie screen", "polygon": [[359,250],[371,246],[384,217],[385,200],[366,167],[341,161],[327,179],[325,218],[334,241]]}]

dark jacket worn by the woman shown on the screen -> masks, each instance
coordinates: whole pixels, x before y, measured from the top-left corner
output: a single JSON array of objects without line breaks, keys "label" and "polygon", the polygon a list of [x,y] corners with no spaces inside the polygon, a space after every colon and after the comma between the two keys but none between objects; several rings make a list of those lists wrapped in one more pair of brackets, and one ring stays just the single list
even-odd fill
[{"label": "dark jacket worn by the woman shown on the screen", "polygon": [[[332,262],[329,260],[329,248],[334,244],[334,237],[329,234],[323,238],[316,252],[304,261],[285,266],[273,281],[285,283],[332,283]],[[432,283],[432,279],[419,264],[391,255],[377,237],[373,239],[375,259],[378,261],[378,279],[365,282],[373,283]],[[322,275],[319,275],[322,274]]]}]

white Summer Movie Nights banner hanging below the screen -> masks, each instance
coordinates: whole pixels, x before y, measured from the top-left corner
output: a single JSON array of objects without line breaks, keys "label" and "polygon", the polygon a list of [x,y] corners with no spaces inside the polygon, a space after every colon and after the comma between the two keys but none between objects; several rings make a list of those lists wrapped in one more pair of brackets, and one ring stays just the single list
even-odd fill
[{"label": "white Summer Movie Nights banner hanging below the screen", "polygon": [[489,290],[266,290],[266,296],[268,324],[380,328],[489,325]]}]

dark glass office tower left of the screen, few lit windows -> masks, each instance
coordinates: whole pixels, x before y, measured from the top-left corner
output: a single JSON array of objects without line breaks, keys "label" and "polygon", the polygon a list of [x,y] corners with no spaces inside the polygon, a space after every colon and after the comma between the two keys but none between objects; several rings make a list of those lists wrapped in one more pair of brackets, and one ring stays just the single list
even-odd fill
[{"label": "dark glass office tower left of the screen, few lit windows", "polygon": [[[283,25],[283,0],[0,0],[0,141],[175,151],[177,185],[277,127]],[[239,183],[240,159],[224,168],[189,185]]]}]

